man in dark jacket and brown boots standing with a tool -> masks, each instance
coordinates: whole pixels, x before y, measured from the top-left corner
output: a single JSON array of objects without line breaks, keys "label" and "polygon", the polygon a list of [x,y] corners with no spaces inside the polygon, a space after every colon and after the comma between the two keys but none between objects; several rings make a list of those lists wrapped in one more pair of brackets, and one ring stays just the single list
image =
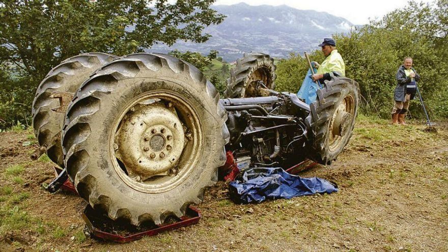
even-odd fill
[{"label": "man in dark jacket and brown boots standing with a tool", "polygon": [[420,80],[420,75],[412,68],[412,63],[412,58],[406,57],[395,75],[397,88],[394,92],[395,105],[392,109],[392,124],[406,125],[404,118],[409,108],[409,101],[414,98],[417,90],[416,82]]}]

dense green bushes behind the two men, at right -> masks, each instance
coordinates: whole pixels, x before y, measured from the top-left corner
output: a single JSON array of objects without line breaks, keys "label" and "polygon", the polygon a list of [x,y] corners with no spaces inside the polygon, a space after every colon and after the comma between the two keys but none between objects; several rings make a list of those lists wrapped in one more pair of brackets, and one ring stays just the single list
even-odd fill
[{"label": "dense green bushes behind the two men, at right", "polygon": [[[435,4],[410,2],[406,8],[348,34],[336,34],[338,51],[346,63],[346,75],[359,83],[363,113],[390,117],[396,87],[395,74],[405,57],[412,57],[422,76],[418,83],[432,115],[448,117],[448,0]],[[321,62],[316,55],[313,60]],[[306,73],[306,60],[292,55],[277,66],[277,88],[297,92]],[[412,115],[422,113],[417,100]],[[421,115],[418,115],[421,116]]]}]

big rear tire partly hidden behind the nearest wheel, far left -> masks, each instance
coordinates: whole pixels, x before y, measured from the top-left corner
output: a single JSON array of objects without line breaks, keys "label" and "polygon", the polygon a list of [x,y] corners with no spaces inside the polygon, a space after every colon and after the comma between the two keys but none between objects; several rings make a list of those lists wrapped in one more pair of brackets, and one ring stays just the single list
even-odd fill
[{"label": "big rear tire partly hidden behind the nearest wheel, far left", "polygon": [[51,69],[37,88],[32,106],[34,133],[40,146],[54,142],[47,155],[59,166],[64,167],[59,133],[69,102],[83,81],[115,58],[115,55],[100,52],[76,55]]}]

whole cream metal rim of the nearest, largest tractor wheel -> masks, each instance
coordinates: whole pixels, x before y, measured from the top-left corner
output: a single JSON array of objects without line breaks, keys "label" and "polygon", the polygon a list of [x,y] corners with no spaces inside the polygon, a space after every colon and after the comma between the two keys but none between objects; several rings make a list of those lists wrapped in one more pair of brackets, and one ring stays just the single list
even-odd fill
[{"label": "whole cream metal rim of the nearest, largest tractor wheel", "polygon": [[158,90],[139,95],[123,109],[109,150],[114,170],[126,185],[160,193],[191,175],[203,138],[194,106],[177,93]]}]

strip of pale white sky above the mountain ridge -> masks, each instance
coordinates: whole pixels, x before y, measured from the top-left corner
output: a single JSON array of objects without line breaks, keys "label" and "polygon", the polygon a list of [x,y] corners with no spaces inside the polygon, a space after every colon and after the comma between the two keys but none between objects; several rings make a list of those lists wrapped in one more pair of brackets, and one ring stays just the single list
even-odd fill
[{"label": "strip of pale white sky above the mountain ridge", "polygon": [[[325,11],[331,15],[343,17],[353,24],[366,24],[369,18],[382,17],[390,11],[405,7],[408,3],[407,0],[216,0],[215,5],[233,5],[241,2],[248,5],[287,5],[300,10]],[[422,2],[429,3],[434,0]]]}]

